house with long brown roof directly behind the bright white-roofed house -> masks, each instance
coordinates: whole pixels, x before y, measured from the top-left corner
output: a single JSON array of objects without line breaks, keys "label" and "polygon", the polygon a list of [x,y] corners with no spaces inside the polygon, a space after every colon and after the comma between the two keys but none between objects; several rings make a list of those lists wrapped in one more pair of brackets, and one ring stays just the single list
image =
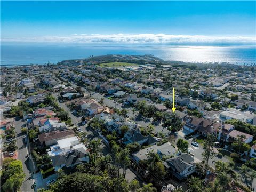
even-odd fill
[{"label": "house with long brown roof directly behind the bright white-roofed house", "polygon": [[51,131],[48,133],[39,134],[39,142],[43,146],[51,146],[57,144],[58,140],[74,137],[75,132],[73,130],[65,131]]}]

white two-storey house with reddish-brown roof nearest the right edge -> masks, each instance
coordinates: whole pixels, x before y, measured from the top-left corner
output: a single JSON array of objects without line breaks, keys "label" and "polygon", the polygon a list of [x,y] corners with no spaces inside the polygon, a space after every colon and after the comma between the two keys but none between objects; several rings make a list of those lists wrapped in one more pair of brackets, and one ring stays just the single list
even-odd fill
[{"label": "white two-storey house with reddish-brown roof nearest the right edge", "polygon": [[219,130],[218,140],[226,143],[232,143],[237,141],[240,135],[245,136],[245,139],[243,140],[245,143],[252,142],[253,135],[235,130],[234,125],[225,124],[224,127]]}]

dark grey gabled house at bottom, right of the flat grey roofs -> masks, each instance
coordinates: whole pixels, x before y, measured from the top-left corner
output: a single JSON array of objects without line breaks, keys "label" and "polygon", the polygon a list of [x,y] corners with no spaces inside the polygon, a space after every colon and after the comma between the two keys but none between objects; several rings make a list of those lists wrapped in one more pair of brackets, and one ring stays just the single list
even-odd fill
[{"label": "dark grey gabled house at bottom, right of the flat grey roofs", "polygon": [[179,179],[179,181],[187,179],[196,170],[194,157],[186,153],[167,159],[163,165],[168,175]]}]

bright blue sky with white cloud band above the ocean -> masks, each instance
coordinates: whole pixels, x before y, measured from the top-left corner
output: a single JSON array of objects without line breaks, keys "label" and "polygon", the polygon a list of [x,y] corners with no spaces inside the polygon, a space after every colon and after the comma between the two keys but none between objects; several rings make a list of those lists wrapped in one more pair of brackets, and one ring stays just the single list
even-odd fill
[{"label": "bright blue sky with white cloud band above the ocean", "polygon": [[256,1],[1,1],[2,43],[256,44]]}]

